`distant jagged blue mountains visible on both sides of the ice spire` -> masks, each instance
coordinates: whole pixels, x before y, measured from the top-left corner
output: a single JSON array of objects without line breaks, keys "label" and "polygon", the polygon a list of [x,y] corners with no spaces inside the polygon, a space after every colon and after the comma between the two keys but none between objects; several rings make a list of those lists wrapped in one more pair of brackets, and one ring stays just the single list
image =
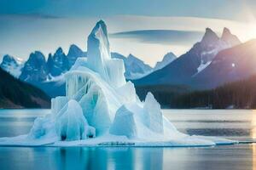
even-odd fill
[{"label": "distant jagged blue mountains visible on both sides of the ice spire", "polygon": [[[143,77],[169,64],[176,58],[172,53],[166,54],[164,59],[152,68],[132,54],[129,54],[127,57],[118,53],[111,53],[111,55],[113,58],[124,60],[125,78],[129,80]],[[40,51],[30,54],[26,62],[21,62],[20,59],[7,54],[3,57],[0,66],[14,77],[31,83],[44,90],[49,96],[55,97],[65,94],[63,75],[71,69],[79,57],[87,57],[87,52],[72,44],[67,54],[63,52],[62,48],[57,48],[55,54],[49,54],[48,59]]]}]

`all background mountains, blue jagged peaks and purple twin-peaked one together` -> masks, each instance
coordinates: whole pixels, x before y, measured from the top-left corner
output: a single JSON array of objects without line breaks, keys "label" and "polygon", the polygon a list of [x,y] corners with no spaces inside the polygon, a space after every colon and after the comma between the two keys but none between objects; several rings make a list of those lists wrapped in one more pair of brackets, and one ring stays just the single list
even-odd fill
[{"label": "all background mountains, blue jagged peaks and purple twin-peaked one together", "polygon": [[[125,78],[137,87],[177,87],[179,85],[203,90],[217,88],[226,82],[233,82],[256,74],[256,40],[242,43],[228,28],[220,37],[210,28],[206,29],[200,42],[195,42],[189,51],[179,57],[171,52],[154,68],[143,60],[129,54],[111,53],[113,58],[123,59]],[[65,54],[58,48],[55,54],[35,51],[26,62],[20,62],[6,55],[1,68],[24,82],[44,90],[49,96],[65,94],[63,75],[71,69],[76,59],[86,58],[87,52],[71,45]]]}]

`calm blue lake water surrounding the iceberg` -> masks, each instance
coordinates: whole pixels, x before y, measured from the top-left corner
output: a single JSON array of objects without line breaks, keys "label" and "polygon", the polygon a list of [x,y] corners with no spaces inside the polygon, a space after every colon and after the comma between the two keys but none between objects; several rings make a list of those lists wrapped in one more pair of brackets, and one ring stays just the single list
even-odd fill
[{"label": "calm blue lake water surrounding the iceberg", "polygon": [[[256,111],[163,110],[183,133],[256,139]],[[0,137],[28,133],[49,110],[0,110]],[[199,148],[0,147],[5,169],[255,169],[256,144]]]}]

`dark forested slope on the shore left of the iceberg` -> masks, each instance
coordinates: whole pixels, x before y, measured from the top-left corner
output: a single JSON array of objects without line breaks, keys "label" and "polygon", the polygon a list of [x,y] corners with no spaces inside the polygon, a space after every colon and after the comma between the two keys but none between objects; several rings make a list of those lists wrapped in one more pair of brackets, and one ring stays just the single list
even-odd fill
[{"label": "dark forested slope on the shore left of the iceberg", "polygon": [[49,108],[49,106],[50,99],[44,92],[0,69],[0,108]]}]

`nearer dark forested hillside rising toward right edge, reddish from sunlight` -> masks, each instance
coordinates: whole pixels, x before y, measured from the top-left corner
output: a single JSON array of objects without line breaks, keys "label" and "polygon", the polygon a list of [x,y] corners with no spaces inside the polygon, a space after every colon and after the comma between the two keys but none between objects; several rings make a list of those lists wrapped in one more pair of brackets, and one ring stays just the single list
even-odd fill
[{"label": "nearer dark forested hillside rising toward right edge, reddish from sunlight", "polygon": [[183,94],[170,100],[174,108],[212,107],[212,109],[256,108],[256,76],[247,80],[230,82],[206,91],[195,91]]}]

